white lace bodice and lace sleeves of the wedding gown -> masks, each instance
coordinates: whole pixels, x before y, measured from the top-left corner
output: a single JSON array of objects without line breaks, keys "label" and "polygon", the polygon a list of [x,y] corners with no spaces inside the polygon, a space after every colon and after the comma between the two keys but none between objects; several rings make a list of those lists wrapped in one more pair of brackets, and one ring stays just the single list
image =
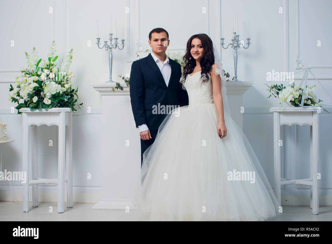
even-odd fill
[{"label": "white lace bodice and lace sleeves of the wedding gown", "polygon": [[[203,103],[213,103],[212,80],[211,76],[207,82],[202,83],[201,71],[194,73],[192,76],[187,75],[187,78],[182,83],[182,88],[187,90],[189,97],[189,106],[197,101],[204,101]],[[224,78],[223,78],[224,79]],[[226,87],[222,79],[222,93],[226,94]],[[225,96],[227,99],[227,97]],[[201,102],[200,102],[201,103]]]}]

